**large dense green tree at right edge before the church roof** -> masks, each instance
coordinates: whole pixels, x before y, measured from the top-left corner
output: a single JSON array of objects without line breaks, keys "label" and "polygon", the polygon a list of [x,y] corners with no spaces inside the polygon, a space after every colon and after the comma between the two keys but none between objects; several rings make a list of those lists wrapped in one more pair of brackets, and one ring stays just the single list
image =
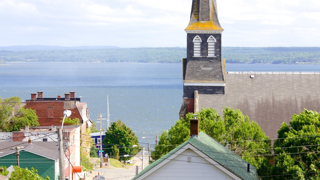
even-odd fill
[{"label": "large dense green tree at right edge before the church roof", "polygon": [[320,179],[320,113],[294,114],[282,123],[274,142],[273,179]]}]

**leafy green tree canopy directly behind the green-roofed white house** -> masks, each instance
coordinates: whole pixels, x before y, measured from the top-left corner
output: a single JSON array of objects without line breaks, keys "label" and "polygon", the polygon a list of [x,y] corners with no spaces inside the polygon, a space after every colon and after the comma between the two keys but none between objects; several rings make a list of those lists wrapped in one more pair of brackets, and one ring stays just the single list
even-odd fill
[{"label": "leafy green tree canopy directly behind the green-roofed white house", "polygon": [[[257,167],[258,173],[263,174],[263,170],[259,172],[259,169],[268,166],[268,159],[265,156],[255,155],[270,154],[271,142],[256,122],[250,121],[240,110],[229,107],[223,110],[224,120],[212,108],[202,109],[197,114],[199,131],[203,131],[231,151],[241,155],[243,159]],[[154,160],[190,138],[190,119],[193,119],[193,116],[191,113],[187,114],[186,119],[179,119],[168,132],[164,131],[159,136],[159,143],[151,153]]]}]

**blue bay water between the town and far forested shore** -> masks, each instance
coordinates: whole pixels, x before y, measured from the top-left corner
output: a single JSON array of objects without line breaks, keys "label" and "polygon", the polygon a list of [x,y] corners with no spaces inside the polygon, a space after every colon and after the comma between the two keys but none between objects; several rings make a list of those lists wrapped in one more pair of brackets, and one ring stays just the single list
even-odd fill
[{"label": "blue bay water between the town and far forested shore", "polygon": [[[227,71],[320,71],[316,64],[227,64]],[[179,119],[183,83],[181,63],[73,63],[12,62],[0,65],[0,97],[43,91],[44,97],[76,92],[87,102],[90,118],[120,119],[130,127],[141,144],[155,144],[156,135],[170,129]],[[61,112],[61,117],[63,112]],[[106,129],[107,120],[102,120]],[[142,137],[151,137],[142,139]],[[154,139],[152,139],[154,138]]]}]

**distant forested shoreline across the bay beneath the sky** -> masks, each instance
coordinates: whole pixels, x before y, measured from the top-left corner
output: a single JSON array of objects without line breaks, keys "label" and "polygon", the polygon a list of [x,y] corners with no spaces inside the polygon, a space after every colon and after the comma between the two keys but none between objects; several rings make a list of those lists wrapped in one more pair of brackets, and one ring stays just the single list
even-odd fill
[{"label": "distant forested shoreline across the bay beneath the sky", "polygon": [[[0,64],[17,61],[181,63],[186,57],[186,47],[0,47]],[[320,63],[320,47],[222,47],[222,58],[227,63]]]}]

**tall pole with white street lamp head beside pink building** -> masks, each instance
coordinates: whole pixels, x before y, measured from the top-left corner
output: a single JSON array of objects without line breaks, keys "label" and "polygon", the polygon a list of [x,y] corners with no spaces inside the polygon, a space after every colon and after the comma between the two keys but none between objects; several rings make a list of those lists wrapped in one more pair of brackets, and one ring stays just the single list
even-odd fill
[{"label": "tall pole with white street lamp head beside pink building", "polygon": [[65,180],[65,169],[64,169],[64,150],[63,150],[63,142],[62,142],[62,128],[63,128],[63,122],[64,119],[69,117],[71,115],[71,110],[65,110],[63,111],[63,119],[62,119],[62,125],[61,128],[57,129],[58,134],[58,151],[59,151],[59,179]]}]

